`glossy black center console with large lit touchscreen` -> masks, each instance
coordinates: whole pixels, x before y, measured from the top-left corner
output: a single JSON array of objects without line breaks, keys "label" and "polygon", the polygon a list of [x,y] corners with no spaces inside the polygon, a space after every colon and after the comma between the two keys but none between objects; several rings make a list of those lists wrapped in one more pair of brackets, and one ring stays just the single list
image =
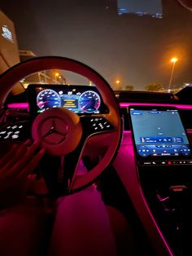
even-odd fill
[{"label": "glossy black center console with large lit touchscreen", "polygon": [[189,255],[192,153],[177,108],[129,107],[137,172],[146,201],[176,255]]}]

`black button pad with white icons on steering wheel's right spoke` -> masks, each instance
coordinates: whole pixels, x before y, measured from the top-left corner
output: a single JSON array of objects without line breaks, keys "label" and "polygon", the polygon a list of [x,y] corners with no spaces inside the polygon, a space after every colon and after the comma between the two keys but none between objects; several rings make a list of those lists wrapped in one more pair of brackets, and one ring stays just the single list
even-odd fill
[{"label": "black button pad with white icons on steering wheel's right spoke", "polygon": [[105,117],[81,117],[81,120],[85,126],[85,129],[89,131],[90,134],[114,130],[111,122]]}]

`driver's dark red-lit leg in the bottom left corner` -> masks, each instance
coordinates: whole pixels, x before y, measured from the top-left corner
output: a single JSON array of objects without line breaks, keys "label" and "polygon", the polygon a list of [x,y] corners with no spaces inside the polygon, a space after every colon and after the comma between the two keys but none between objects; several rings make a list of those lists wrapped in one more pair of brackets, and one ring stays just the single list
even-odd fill
[{"label": "driver's dark red-lit leg in the bottom left corner", "polygon": [[0,211],[0,255],[42,255],[46,225],[44,205],[35,197]]}]

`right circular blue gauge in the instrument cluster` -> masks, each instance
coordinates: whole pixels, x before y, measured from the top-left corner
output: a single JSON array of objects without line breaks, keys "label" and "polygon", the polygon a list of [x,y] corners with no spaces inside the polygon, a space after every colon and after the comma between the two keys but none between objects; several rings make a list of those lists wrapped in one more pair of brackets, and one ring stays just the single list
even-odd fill
[{"label": "right circular blue gauge in the instrument cluster", "polygon": [[101,105],[101,99],[94,90],[86,90],[79,98],[79,108],[85,113],[94,113]]}]

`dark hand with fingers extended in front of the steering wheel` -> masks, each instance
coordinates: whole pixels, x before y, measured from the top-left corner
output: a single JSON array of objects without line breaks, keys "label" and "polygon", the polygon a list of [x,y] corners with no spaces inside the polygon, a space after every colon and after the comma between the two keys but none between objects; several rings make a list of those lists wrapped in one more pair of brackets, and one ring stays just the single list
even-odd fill
[{"label": "dark hand with fingers extended in front of the steering wheel", "polygon": [[37,166],[45,150],[39,142],[30,140],[11,145],[11,150],[0,159],[0,207],[19,201],[26,192],[28,174]]}]

